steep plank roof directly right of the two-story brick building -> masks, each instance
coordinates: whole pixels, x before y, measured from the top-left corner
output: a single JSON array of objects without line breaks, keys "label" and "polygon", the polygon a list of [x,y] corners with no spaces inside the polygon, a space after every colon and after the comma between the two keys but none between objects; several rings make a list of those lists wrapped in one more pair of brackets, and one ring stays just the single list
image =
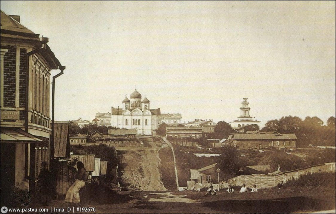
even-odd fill
[{"label": "steep plank roof directly right of the two-story brick building", "polygon": [[70,155],[69,123],[54,123],[54,157]]}]

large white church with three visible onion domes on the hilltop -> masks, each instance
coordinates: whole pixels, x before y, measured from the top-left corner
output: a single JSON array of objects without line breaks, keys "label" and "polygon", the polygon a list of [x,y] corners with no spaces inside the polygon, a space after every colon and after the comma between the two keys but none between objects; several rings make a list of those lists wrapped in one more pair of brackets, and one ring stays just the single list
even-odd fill
[{"label": "large white church with three visible onion domes on the hilltop", "polygon": [[152,135],[160,123],[160,108],[151,109],[150,101],[145,97],[141,100],[141,94],[134,91],[130,99],[122,101],[122,108],[111,109],[111,125],[118,128],[137,129],[138,135]]}]

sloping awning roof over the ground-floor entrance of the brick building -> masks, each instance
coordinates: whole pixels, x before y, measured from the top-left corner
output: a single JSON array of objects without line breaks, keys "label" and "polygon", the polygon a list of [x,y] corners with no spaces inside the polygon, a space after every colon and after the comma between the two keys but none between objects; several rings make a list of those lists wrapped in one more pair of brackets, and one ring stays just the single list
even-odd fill
[{"label": "sloping awning roof over the ground-floor entrance of the brick building", "polygon": [[5,129],[1,128],[0,131],[1,143],[38,143],[43,142],[34,135],[22,129]]}]

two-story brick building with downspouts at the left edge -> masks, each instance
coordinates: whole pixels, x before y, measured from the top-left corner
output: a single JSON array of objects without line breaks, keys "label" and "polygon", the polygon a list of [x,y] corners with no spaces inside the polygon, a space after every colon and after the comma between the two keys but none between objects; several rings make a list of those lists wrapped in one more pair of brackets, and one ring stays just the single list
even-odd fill
[{"label": "two-story brick building with downspouts at the left edge", "polygon": [[34,195],[49,163],[50,71],[61,64],[47,39],[1,11],[1,202],[12,186]]}]

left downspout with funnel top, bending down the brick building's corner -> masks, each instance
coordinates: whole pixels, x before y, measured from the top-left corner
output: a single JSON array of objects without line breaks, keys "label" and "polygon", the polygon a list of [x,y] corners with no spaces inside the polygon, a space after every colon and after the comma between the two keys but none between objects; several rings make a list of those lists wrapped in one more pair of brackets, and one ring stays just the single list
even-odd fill
[{"label": "left downspout with funnel top, bending down the brick building's corner", "polygon": [[36,50],[30,51],[27,53],[27,57],[26,57],[26,100],[25,100],[25,131],[28,132],[28,107],[29,107],[29,57],[35,53],[38,53],[40,51],[42,51],[43,49],[46,48],[46,44],[49,42],[49,38],[47,37],[41,37],[40,39],[40,44],[42,44],[41,48],[38,48]]}]

